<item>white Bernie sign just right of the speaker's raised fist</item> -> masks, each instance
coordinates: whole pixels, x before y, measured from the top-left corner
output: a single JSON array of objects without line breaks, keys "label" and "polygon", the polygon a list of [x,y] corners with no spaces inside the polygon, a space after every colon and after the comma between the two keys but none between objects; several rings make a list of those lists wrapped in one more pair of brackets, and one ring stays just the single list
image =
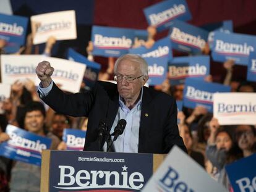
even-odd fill
[{"label": "white Bernie sign just right of the speaker's raised fist", "polygon": [[[51,78],[61,90],[70,93],[79,92],[87,65],[54,57],[43,57],[43,59],[42,61],[48,61],[54,68]],[[36,85],[38,85],[40,80],[39,78],[36,78],[36,80]]]}]

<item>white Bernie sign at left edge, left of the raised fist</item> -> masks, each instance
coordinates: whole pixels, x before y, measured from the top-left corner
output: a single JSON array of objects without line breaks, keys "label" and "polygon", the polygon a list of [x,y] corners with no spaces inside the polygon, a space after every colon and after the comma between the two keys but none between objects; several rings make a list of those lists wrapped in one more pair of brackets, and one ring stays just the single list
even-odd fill
[{"label": "white Bernie sign at left edge, left of the raised fist", "polygon": [[24,82],[27,78],[36,83],[36,66],[43,59],[41,55],[1,55],[2,83]]}]

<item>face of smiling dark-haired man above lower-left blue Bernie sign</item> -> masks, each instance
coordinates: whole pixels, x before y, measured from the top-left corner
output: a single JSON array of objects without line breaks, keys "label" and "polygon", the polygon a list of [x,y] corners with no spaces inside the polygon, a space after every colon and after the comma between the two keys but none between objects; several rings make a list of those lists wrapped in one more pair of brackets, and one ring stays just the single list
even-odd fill
[{"label": "face of smiling dark-haired man above lower-left blue Bernie sign", "polygon": [[24,119],[25,130],[40,135],[43,133],[45,117],[41,111],[27,112]]}]

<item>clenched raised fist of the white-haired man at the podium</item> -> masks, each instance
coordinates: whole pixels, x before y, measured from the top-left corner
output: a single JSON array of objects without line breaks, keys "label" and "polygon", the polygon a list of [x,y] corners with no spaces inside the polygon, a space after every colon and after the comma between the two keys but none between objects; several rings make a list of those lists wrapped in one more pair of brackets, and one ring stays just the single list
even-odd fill
[{"label": "clenched raised fist of the white-haired man at the podium", "polygon": [[37,65],[36,75],[41,80],[43,87],[47,87],[51,83],[53,71],[54,69],[48,61],[42,61]]}]

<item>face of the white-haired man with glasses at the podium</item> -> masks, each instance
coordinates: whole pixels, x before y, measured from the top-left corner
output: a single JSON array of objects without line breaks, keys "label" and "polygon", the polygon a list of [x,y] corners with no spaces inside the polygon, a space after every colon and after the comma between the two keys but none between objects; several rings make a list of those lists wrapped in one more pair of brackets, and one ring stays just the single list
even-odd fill
[{"label": "face of the white-haired man with glasses at the podium", "polygon": [[[139,69],[138,64],[134,64],[128,60],[121,61],[116,69],[116,75],[122,75],[124,77],[137,78],[140,77],[142,72]],[[140,89],[145,84],[143,76],[135,79],[131,83],[126,79],[117,81],[117,90],[122,98],[136,100],[139,97]]]}]

